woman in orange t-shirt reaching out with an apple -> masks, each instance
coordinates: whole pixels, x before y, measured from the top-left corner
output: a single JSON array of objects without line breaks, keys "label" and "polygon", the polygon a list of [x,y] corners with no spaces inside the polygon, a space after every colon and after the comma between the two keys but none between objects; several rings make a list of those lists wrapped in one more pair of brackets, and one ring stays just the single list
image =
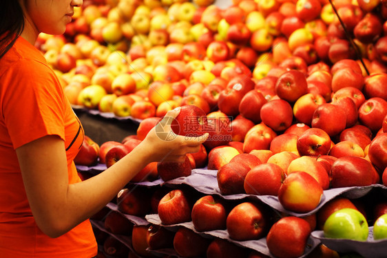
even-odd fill
[{"label": "woman in orange t-shirt reaching out with an apple", "polygon": [[183,161],[207,139],[163,139],[172,133],[163,119],[114,166],[79,179],[73,159],[83,128],[34,42],[40,32],[62,34],[81,4],[17,0],[5,1],[0,9],[1,257],[94,257],[97,246],[88,218],[147,163]]}]

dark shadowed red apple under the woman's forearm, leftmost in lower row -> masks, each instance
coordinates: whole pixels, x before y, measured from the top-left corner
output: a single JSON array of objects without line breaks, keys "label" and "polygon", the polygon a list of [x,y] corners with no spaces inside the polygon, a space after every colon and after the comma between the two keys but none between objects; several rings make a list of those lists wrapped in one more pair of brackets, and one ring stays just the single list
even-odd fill
[{"label": "dark shadowed red apple under the woman's forearm, leftmost in lower row", "polygon": [[151,210],[151,195],[145,188],[123,188],[117,194],[117,208],[128,215],[145,216]]}]

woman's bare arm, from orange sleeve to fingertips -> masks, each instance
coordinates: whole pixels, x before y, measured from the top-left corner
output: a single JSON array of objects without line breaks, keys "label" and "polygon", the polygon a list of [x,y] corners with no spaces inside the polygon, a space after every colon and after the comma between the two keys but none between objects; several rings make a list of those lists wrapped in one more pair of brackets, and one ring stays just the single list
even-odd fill
[{"label": "woman's bare arm, from orange sleeve to fingertips", "polygon": [[[176,117],[178,110],[168,113]],[[94,215],[111,201],[147,163],[183,161],[197,152],[207,139],[182,136],[163,139],[160,128],[171,132],[164,119],[132,152],[104,172],[80,183],[68,184],[63,140],[45,136],[20,148],[17,156],[28,201],[39,228],[50,237],[59,237]]]}]

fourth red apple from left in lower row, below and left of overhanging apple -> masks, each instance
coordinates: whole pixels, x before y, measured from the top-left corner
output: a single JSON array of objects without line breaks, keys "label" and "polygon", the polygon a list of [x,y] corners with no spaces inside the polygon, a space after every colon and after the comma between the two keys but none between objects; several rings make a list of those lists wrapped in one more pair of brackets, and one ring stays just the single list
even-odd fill
[{"label": "fourth red apple from left in lower row, below and left of overhanging apple", "polygon": [[263,206],[243,202],[235,206],[227,216],[229,237],[237,241],[260,239],[266,235],[269,217]]}]

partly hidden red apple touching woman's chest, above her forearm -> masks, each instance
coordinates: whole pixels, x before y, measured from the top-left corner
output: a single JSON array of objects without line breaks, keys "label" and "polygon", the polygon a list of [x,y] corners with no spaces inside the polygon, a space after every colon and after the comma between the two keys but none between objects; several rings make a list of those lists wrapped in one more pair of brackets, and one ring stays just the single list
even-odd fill
[{"label": "partly hidden red apple touching woman's chest, above her forearm", "polygon": [[100,146],[90,137],[85,135],[81,148],[74,158],[76,165],[93,166],[97,163]]}]

